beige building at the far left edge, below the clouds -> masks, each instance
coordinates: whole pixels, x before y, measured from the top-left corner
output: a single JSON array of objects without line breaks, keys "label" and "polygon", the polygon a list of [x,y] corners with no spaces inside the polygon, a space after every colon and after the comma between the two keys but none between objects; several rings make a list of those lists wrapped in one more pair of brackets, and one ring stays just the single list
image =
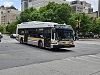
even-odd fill
[{"label": "beige building at the far left edge, below the clouds", "polygon": [[0,24],[7,25],[16,20],[16,17],[19,16],[20,11],[14,6],[11,7],[0,7]]}]

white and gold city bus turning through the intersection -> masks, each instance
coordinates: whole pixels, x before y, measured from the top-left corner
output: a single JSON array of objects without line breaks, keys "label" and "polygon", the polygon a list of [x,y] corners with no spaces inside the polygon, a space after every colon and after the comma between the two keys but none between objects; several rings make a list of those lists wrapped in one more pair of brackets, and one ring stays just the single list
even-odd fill
[{"label": "white and gold city bus turning through the intersection", "polygon": [[70,48],[74,45],[74,31],[71,25],[54,22],[31,21],[17,25],[16,40],[39,48]]}]

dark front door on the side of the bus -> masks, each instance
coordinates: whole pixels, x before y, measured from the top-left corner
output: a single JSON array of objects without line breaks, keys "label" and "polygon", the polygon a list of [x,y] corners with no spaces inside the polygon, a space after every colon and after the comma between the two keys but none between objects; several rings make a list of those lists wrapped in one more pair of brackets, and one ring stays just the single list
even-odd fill
[{"label": "dark front door on the side of the bus", "polygon": [[50,48],[51,43],[51,28],[44,29],[44,47]]}]

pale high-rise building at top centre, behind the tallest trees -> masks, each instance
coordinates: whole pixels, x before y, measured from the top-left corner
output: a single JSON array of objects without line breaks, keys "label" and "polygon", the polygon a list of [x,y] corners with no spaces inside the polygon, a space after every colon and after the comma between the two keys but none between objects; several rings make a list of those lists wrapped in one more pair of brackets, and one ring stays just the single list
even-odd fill
[{"label": "pale high-rise building at top centre, behind the tallest trees", "polygon": [[49,2],[68,3],[66,0],[21,0],[21,11],[30,7],[38,9],[41,6],[47,5]]}]

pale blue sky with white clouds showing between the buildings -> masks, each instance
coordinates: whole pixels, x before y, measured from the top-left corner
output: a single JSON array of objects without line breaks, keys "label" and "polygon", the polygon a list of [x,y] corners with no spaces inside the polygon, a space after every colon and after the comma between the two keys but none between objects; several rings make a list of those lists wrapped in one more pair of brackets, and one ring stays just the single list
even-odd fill
[{"label": "pale blue sky with white clouds showing between the buildings", "polygon": [[[66,0],[66,1],[71,2],[73,0]],[[80,0],[80,1],[86,1],[92,5],[94,11],[98,10],[98,0]],[[19,11],[21,10],[21,0],[0,0],[0,5],[4,5],[6,7],[13,5]]]}]

